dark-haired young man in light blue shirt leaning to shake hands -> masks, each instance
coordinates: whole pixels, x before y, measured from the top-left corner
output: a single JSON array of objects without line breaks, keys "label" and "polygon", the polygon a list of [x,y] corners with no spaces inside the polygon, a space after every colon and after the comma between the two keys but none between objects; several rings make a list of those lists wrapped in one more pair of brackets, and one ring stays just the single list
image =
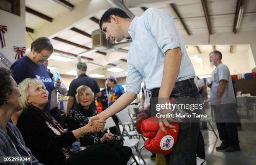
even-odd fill
[{"label": "dark-haired young man in light blue shirt leaning to shake hands", "polygon": [[[187,55],[184,42],[175,28],[172,17],[163,10],[149,8],[141,17],[131,20],[118,7],[111,7],[102,15],[100,28],[107,39],[130,42],[126,92],[97,117],[105,120],[127,107],[141,90],[143,77],[151,97],[195,97],[199,95],[194,83],[195,71]],[[174,96],[176,94],[176,96]],[[154,108],[153,108],[154,109]],[[166,133],[175,128],[159,118],[159,127]],[[179,138],[168,164],[195,164],[195,145],[198,123],[181,123]],[[191,132],[191,134],[190,134]],[[189,144],[189,145],[186,145]],[[189,146],[189,148],[187,148]],[[179,154],[182,152],[182,155]]]}]

